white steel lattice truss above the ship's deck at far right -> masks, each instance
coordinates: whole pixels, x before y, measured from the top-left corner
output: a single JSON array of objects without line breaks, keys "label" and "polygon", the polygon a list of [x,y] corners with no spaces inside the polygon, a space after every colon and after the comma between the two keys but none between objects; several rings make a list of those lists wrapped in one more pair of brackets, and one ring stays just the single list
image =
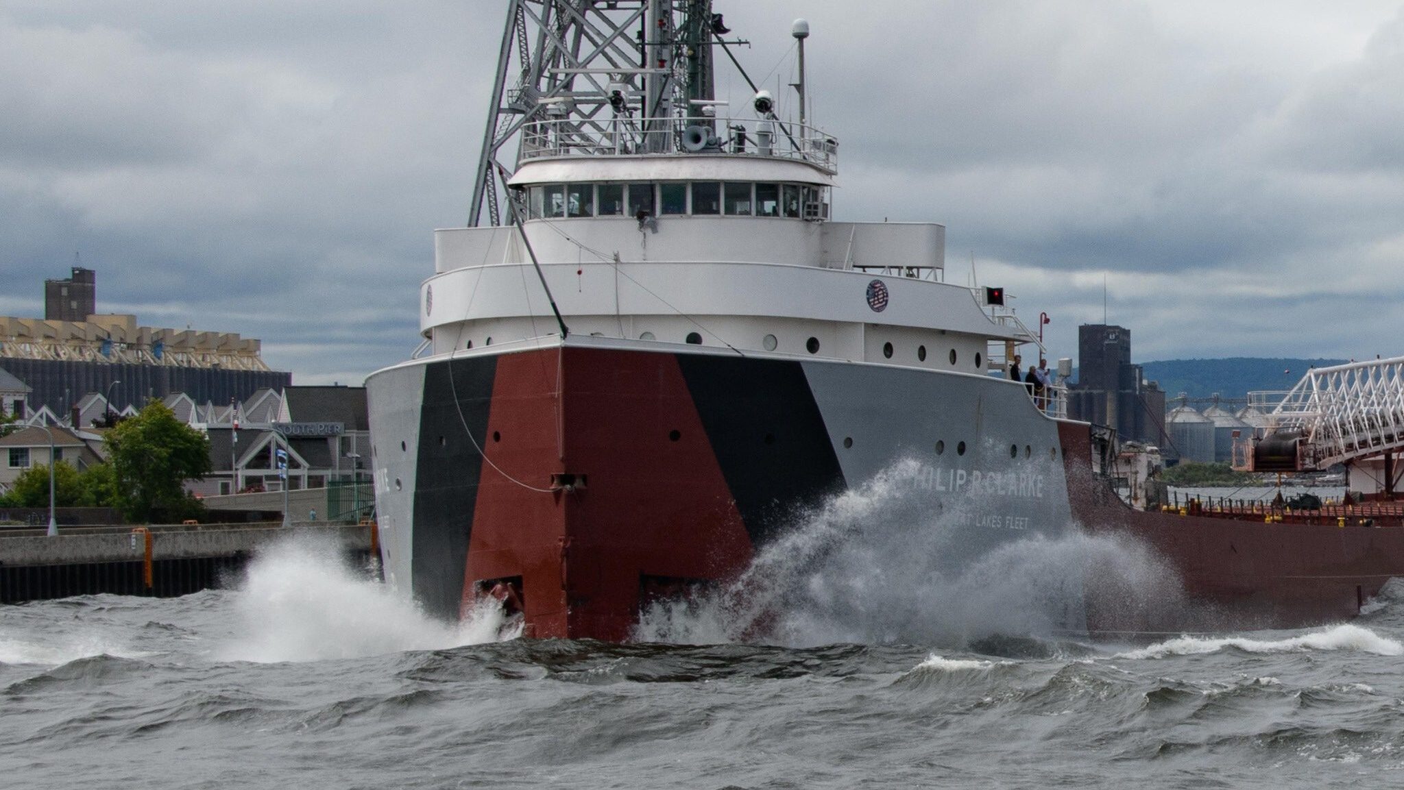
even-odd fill
[{"label": "white steel lattice truss above the ship's deck at far right", "polygon": [[1287,393],[1252,393],[1266,432],[1300,432],[1299,469],[1404,450],[1404,356],[1307,370]]}]

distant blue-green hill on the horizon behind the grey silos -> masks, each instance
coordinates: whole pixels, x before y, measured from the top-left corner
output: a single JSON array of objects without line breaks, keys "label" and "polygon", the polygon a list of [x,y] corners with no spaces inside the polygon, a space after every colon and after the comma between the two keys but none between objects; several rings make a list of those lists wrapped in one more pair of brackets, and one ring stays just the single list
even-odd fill
[{"label": "distant blue-green hill on the horizon behind the grey silos", "polygon": [[[1165,390],[1165,400],[1179,393],[1192,399],[1219,393],[1224,399],[1243,400],[1250,391],[1289,390],[1302,380],[1307,368],[1341,365],[1345,359],[1264,359],[1233,356],[1228,359],[1164,359],[1141,362],[1144,375]],[[1170,406],[1167,403],[1167,406]]]}]

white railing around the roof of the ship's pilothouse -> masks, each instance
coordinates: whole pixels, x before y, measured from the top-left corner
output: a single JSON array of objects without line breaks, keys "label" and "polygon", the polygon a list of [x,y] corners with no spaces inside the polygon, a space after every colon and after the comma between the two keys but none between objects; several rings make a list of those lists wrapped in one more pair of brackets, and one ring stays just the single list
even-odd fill
[{"label": "white railing around the roof of the ship's pilothouse", "polygon": [[814,126],[760,118],[552,118],[522,126],[521,161],[563,156],[726,153],[838,170],[838,140]]}]

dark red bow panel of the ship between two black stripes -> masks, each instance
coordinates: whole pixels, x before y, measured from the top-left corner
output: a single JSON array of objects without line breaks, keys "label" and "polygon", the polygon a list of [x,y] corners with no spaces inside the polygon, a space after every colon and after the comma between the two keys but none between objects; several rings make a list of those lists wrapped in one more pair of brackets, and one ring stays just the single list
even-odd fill
[{"label": "dark red bow panel of the ship between two black stripes", "polygon": [[[674,355],[501,356],[484,450],[463,591],[521,577],[528,636],[625,640],[650,585],[729,578],[751,558]],[[521,484],[552,476],[573,488]]]}]

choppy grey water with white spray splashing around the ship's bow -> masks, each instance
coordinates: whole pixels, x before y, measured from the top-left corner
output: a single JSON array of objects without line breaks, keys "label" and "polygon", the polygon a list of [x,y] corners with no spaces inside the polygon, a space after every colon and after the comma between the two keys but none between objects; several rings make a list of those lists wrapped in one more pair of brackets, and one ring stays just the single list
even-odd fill
[{"label": "choppy grey water with white spray splashing around the ship's bow", "polygon": [[[892,515],[849,505],[833,529]],[[710,644],[498,641],[500,616],[428,620],[305,544],[264,554],[233,589],[3,606],[0,776],[24,789],[1404,783],[1404,596],[1306,630],[1090,644],[1042,633],[1028,610],[1063,589],[1050,568],[1115,546],[1032,540],[941,584],[899,565],[907,575],[870,595],[862,582],[894,554],[828,544],[823,573],[790,580],[796,610],[772,617],[775,644],[747,644],[724,606],[653,612],[639,634]]]}]

